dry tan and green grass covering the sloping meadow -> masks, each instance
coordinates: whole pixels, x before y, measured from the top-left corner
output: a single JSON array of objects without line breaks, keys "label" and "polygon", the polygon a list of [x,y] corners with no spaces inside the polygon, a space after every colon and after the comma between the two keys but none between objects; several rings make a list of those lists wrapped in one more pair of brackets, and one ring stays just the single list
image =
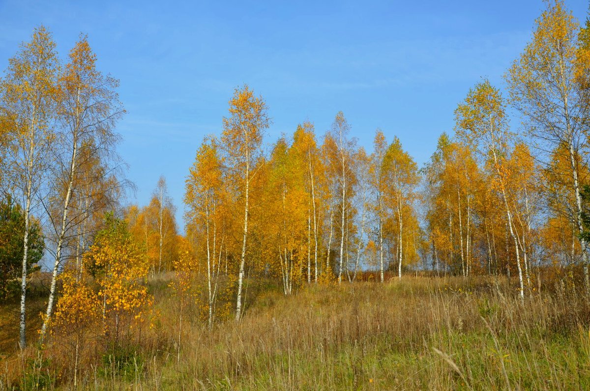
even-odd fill
[{"label": "dry tan and green grass covering the sloping meadow", "polygon": [[[208,331],[186,311],[179,350],[176,298],[166,279],[151,289],[160,314],[156,327],[115,359],[94,344],[80,388],[590,387],[590,306],[563,289],[545,289],[525,302],[506,282],[484,278],[408,276],[385,285],[311,286],[288,298],[267,289],[240,324]],[[58,347],[44,354],[52,349]],[[48,388],[71,389],[66,359],[45,365]],[[0,390],[10,377],[2,376],[0,367]]]}]

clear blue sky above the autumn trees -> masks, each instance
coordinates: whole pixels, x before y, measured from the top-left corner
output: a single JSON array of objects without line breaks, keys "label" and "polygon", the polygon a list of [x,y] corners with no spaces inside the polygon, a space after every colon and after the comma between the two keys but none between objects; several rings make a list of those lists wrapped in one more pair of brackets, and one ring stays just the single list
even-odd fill
[{"label": "clear blue sky above the autumn trees", "polygon": [[[321,4],[317,4],[321,3]],[[417,4],[418,3],[418,4]],[[588,1],[566,1],[581,20]],[[65,57],[89,35],[121,81],[119,152],[146,204],[165,175],[182,221],[184,179],[204,135],[219,134],[234,87],[266,99],[267,141],[342,110],[369,150],[375,128],[422,165],[468,89],[501,75],[529,40],[540,0],[196,2],[0,0],[0,69],[44,24]],[[517,121],[513,121],[517,125]]]}]

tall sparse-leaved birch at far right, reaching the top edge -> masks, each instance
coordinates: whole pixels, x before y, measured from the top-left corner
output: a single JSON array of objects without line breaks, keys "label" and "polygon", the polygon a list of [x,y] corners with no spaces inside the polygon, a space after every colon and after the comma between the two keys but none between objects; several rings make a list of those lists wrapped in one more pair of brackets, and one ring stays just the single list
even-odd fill
[{"label": "tall sparse-leaved birch at far right, reaching the top edge", "polygon": [[[525,118],[537,151],[546,154],[565,145],[575,204],[570,218],[579,235],[584,228],[576,155],[582,154],[587,140],[590,56],[588,49],[580,46],[578,33],[578,22],[563,1],[550,2],[535,22],[532,40],[507,72],[506,81],[510,103]],[[548,161],[546,157],[544,160]],[[579,240],[586,294],[590,294],[588,243],[584,236],[579,236]]]}]

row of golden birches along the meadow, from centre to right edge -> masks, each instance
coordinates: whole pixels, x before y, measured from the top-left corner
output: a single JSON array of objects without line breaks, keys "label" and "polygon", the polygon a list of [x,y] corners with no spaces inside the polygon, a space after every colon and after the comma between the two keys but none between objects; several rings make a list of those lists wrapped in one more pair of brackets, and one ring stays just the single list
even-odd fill
[{"label": "row of golden birches along the meadow, from centre to right edge", "polygon": [[[266,154],[266,103],[236,89],[221,135],[204,139],[186,180],[196,262],[183,265],[202,262],[209,322],[228,264],[237,320],[244,275],[276,277],[289,295],[413,267],[514,277],[525,298],[546,270],[588,294],[588,28],[563,2],[549,5],[504,74],[506,96],[487,79],[473,86],[454,135],[440,136],[422,168],[380,129],[366,152],[342,112],[325,135],[303,122]],[[522,124],[510,125],[510,109]]]}]

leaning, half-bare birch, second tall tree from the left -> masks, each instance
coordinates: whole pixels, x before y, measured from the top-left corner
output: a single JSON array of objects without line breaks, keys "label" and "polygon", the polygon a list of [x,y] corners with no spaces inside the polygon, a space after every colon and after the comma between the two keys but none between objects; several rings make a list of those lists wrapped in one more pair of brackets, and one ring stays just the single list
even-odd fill
[{"label": "leaning, half-bare birch, second tall tree from the left", "polygon": [[[60,75],[60,99],[57,115],[61,131],[53,148],[56,162],[54,186],[57,188],[59,213],[52,219],[55,237],[55,257],[51,275],[50,293],[43,325],[41,340],[47,331],[55,299],[57,274],[64,258],[64,246],[71,236],[76,235],[76,225],[84,224],[88,214],[71,213],[74,193],[84,181],[85,172],[81,159],[108,158],[119,139],[114,133],[117,120],[122,118],[124,109],[116,88],[118,80],[103,76],[96,69],[96,55],[92,53],[87,37],[82,36],[70,51],[70,62]],[[86,149],[86,151],[81,151]]]}]

